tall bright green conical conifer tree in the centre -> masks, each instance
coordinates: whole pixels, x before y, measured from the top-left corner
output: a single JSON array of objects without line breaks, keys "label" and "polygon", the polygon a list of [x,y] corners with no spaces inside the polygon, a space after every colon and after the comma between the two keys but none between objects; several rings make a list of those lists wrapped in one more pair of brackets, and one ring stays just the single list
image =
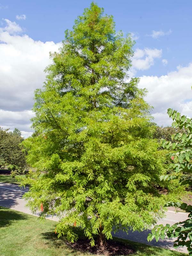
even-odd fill
[{"label": "tall bright green conical conifer tree in the centre", "polygon": [[71,241],[81,228],[103,245],[112,230],[142,230],[162,215],[163,151],[151,139],[138,78],[127,79],[132,46],[92,3],[66,31],[35,92],[36,133],[24,143],[37,172],[25,180],[26,198],[34,212],[43,203],[42,215],[57,214],[56,232]]}]

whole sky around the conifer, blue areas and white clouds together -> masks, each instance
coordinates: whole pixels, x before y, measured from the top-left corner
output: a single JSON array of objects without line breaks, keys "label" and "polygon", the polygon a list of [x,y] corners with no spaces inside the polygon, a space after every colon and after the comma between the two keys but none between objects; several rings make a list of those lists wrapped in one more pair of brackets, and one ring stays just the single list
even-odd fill
[{"label": "whole sky around the conifer, blue areas and white clouds together", "polygon": [[[0,104],[0,126],[14,129],[14,126],[17,125],[17,128],[20,128],[24,135],[28,136],[30,134],[28,128],[30,121],[24,125],[21,120],[23,116],[22,111],[25,111],[25,114],[27,113],[26,111],[30,113],[26,114],[27,116],[24,115],[25,119],[29,120],[32,116],[30,112],[30,108],[33,105],[32,91],[35,88],[41,87],[44,80],[43,73],[40,74],[38,72],[40,72],[40,69],[43,72],[44,66],[49,64],[48,57],[45,58],[46,54],[48,56],[49,51],[59,48],[60,42],[64,39],[64,31],[67,28],[72,28],[76,17],[81,15],[84,8],[89,7],[90,3],[91,1],[85,0],[0,0],[0,54],[3,56],[2,60],[0,60],[0,67],[1,63],[3,65],[7,61],[7,66],[5,65],[4,68],[0,68],[0,76],[2,75],[6,78],[8,76],[7,70],[15,71],[15,76],[10,81],[12,83],[10,90],[12,92],[16,90],[13,95],[15,106],[20,105],[17,100],[22,101],[19,96],[15,96],[19,83],[26,79],[20,88],[24,92],[22,97],[26,97],[26,101],[30,101],[30,104],[23,102],[22,106],[18,108],[14,108],[14,106],[8,108],[5,104]],[[104,7],[105,13],[114,16],[116,31],[123,30],[125,34],[132,33],[133,38],[135,38],[136,44],[134,49],[136,55],[133,60],[131,75],[141,77],[140,87],[148,89],[147,100],[155,107],[153,112],[156,115],[155,121],[159,125],[171,124],[167,117],[165,117],[167,107],[178,107],[178,110],[186,111],[184,114],[191,115],[192,94],[189,85],[192,85],[192,75],[190,76],[192,71],[190,66],[192,62],[192,1],[119,0],[96,1],[96,3],[100,7]],[[52,41],[54,42],[53,44],[51,43]],[[36,80],[34,84],[30,85],[27,77],[23,77],[22,74],[20,75],[19,72],[16,72],[16,64],[15,66],[8,64],[8,60],[9,63],[16,62],[14,56],[10,55],[10,49],[11,51],[14,49],[14,53],[21,56],[22,61],[18,61],[17,64],[17,66],[20,66],[20,69],[23,69],[25,61],[28,61],[22,54],[26,56],[26,52],[27,55],[31,52],[28,58],[30,60],[33,59],[33,65],[28,67],[28,69],[31,69],[28,77],[32,76],[32,74],[32,77],[34,77],[34,74],[38,73],[39,82]],[[44,55],[39,59],[40,49],[44,49],[42,50]],[[36,65],[37,63],[39,65],[38,72],[34,60],[35,56]],[[4,94],[4,98],[6,95],[8,97],[11,91],[4,89],[7,81],[0,78],[0,82],[2,95]],[[14,83],[18,85],[14,87]],[[184,87],[185,89],[183,90]],[[164,91],[164,96],[162,96],[162,90]],[[26,96],[27,94],[31,95],[31,100]],[[164,101],[162,100],[162,102],[157,104],[158,94]],[[180,102],[178,104],[173,104],[173,102],[179,99]],[[10,113],[6,111],[10,111]],[[14,114],[11,114],[14,111],[17,111],[15,115],[18,115],[18,120],[14,119],[12,121],[10,117],[9,121],[6,121],[8,119],[5,116],[14,116]],[[4,117],[1,117],[1,114]]]}]

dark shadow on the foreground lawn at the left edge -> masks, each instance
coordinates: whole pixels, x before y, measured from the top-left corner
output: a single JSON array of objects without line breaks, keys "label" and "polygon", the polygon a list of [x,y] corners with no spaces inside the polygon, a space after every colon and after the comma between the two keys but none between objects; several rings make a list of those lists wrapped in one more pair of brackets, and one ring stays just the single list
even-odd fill
[{"label": "dark shadow on the foreground lawn at the left edge", "polygon": [[27,218],[19,212],[13,212],[0,206],[0,228],[11,225],[16,220],[26,220]]}]

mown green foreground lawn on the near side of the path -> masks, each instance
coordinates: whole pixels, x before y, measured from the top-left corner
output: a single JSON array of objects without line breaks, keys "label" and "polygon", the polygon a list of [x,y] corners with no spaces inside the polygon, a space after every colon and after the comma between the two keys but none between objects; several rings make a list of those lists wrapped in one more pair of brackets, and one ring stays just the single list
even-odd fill
[{"label": "mown green foreground lawn on the near side of the path", "polygon": [[[88,256],[66,244],[65,238],[57,238],[53,230],[55,221],[39,220],[36,216],[0,207],[0,256]],[[151,247],[131,241],[116,239],[130,244],[136,250],[132,256],[184,256],[159,247]]]}]

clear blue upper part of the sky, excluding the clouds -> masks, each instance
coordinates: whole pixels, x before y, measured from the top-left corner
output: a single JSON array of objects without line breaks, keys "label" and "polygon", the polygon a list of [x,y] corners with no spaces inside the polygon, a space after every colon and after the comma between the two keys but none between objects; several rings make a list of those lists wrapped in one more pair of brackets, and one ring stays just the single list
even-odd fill
[{"label": "clear blue upper part of the sky, excluding the clouds", "polygon": [[[178,65],[185,66],[191,61],[192,45],[192,1],[143,1],[119,0],[96,1],[104,7],[105,13],[112,14],[116,30],[138,33],[135,47],[157,48],[163,50],[163,57],[169,62],[166,67],[157,61],[145,75],[162,75],[174,70]],[[58,43],[64,39],[65,29],[71,29],[74,20],[83,13],[91,1],[0,1],[8,8],[0,11],[3,18],[15,20],[15,16],[24,13],[27,19],[17,23],[25,28],[28,36],[42,42]],[[150,36],[152,30],[171,30],[170,35],[158,40]],[[160,62],[160,63],[159,63]],[[143,75],[142,72],[137,74]]]}]

